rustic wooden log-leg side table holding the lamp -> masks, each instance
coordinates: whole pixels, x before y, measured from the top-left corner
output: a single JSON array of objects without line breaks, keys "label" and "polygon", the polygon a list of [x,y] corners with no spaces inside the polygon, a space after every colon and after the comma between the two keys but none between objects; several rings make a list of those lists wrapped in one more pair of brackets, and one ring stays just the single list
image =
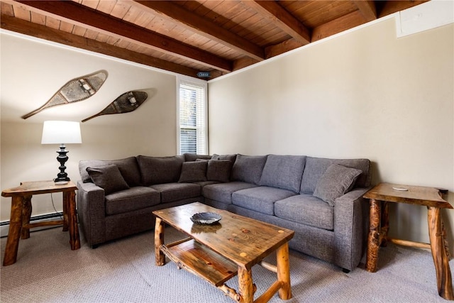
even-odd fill
[{"label": "rustic wooden log-leg side table holding the lamp", "polygon": [[[9,233],[3,260],[4,266],[16,263],[19,238],[30,238],[30,228],[33,227],[63,225],[63,231],[70,230],[71,249],[80,248],[76,214],[76,189],[77,186],[72,181],[65,185],[55,185],[53,181],[38,181],[21,182],[21,186],[5,189],[1,192],[1,196],[12,198]],[[31,224],[31,197],[33,194],[49,194],[52,192],[62,192],[63,194],[63,220]]]}]

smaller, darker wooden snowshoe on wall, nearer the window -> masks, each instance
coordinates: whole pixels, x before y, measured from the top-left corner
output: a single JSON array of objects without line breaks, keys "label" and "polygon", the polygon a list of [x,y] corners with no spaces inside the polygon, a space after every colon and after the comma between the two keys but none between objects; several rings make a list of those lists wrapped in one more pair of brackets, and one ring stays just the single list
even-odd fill
[{"label": "smaller, darker wooden snowshoe on wall, nearer the window", "polygon": [[148,94],[146,92],[136,92],[136,91],[126,92],[126,93],[118,96],[117,99],[112,101],[111,104],[106,106],[106,108],[103,109],[102,111],[100,111],[98,114],[93,115],[87,119],[84,119],[84,120],[82,120],[82,122],[88,121],[97,116],[111,115],[111,114],[123,114],[123,113],[128,113],[130,111],[135,111],[135,109],[137,109],[140,105],[142,105],[143,102],[145,102],[147,98],[148,98]]}]

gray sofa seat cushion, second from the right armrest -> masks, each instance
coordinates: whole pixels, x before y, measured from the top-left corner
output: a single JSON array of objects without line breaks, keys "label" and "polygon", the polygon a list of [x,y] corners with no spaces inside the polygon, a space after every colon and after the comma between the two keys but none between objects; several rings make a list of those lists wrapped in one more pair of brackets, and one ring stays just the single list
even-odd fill
[{"label": "gray sofa seat cushion, second from the right armrest", "polygon": [[262,214],[275,214],[275,202],[294,196],[294,192],[275,187],[253,187],[238,190],[232,194],[232,204],[258,211]]}]

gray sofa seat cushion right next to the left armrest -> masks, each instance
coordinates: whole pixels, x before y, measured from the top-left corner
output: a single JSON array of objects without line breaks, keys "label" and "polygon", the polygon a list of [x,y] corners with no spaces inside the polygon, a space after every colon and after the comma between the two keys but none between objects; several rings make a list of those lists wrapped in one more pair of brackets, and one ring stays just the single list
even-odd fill
[{"label": "gray sofa seat cushion right next to the left armrest", "polygon": [[160,203],[160,193],[150,187],[131,187],[105,197],[106,214],[123,214]]}]

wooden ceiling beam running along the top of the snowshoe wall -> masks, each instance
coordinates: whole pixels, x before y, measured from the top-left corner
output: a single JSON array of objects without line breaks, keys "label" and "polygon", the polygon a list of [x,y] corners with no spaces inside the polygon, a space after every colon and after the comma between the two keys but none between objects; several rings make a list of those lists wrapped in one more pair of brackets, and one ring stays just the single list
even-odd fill
[{"label": "wooden ceiling beam running along the top of the snowshoe wall", "polygon": [[23,33],[25,35],[31,35],[36,38],[42,38],[56,43],[64,45],[70,45],[74,48],[82,48],[84,50],[90,50],[95,53],[101,53],[112,57],[118,57],[123,60],[131,62],[137,62],[143,65],[151,67],[157,67],[162,70],[168,70],[170,72],[176,72],[177,74],[188,75],[196,77],[198,70],[194,70],[189,67],[184,67],[172,62],[160,60],[155,57],[135,53],[125,48],[118,48],[114,45],[99,42],[89,38],[84,38],[80,35],[74,35],[72,33],[66,33],[59,31],[48,26],[42,26],[37,23],[31,23],[13,16],[1,14],[1,28],[16,33]]}]

